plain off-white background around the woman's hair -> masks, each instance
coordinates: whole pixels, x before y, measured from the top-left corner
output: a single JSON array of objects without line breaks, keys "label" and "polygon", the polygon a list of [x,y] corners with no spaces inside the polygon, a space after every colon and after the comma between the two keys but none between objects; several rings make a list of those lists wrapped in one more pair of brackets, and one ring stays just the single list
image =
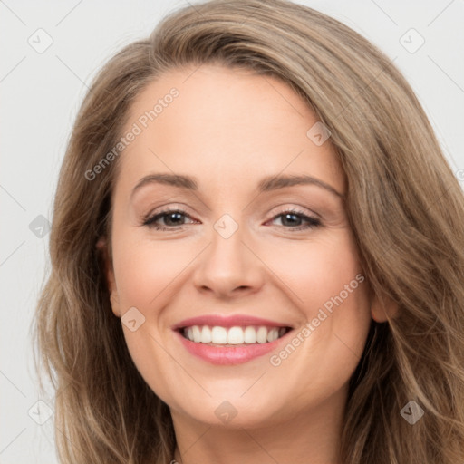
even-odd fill
[{"label": "plain off-white background around the woman's hair", "polygon": [[[193,2],[192,2],[193,3]],[[464,2],[462,0],[300,0],[377,44],[405,74],[430,117],[449,164],[464,185]],[[47,268],[48,237],[29,225],[52,219],[66,142],[87,84],[113,53],[150,34],[186,0],[0,0],[0,463],[57,462],[53,417],[37,424],[39,400],[31,322]],[[42,28],[43,53],[28,40]],[[410,53],[400,39],[414,28],[425,43]],[[412,35],[411,35],[412,34]],[[32,37],[31,39],[29,39]],[[408,33],[402,41],[418,44]],[[40,221],[41,219],[35,219]],[[46,230],[45,230],[46,232]],[[50,398],[43,398],[53,408]],[[46,413],[46,408],[43,407]]]}]

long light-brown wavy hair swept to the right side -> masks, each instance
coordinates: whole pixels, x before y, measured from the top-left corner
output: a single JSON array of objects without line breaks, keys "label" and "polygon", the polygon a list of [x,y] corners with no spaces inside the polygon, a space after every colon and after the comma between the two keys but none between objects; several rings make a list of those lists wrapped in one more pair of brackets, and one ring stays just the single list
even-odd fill
[{"label": "long light-brown wavy hair swept to the right side", "polygon": [[[97,247],[111,237],[121,157],[98,179],[85,172],[118,143],[131,103],[150,82],[203,63],[280,79],[329,128],[363,273],[383,303],[398,305],[386,323],[372,320],[350,379],[343,463],[462,462],[464,195],[392,61],[346,25],[285,0],[213,0],[170,13],[104,65],[82,102],[54,198],[51,272],[34,323],[36,369],[44,365],[56,391],[61,462],[173,459],[169,407],[131,360]],[[401,417],[409,401],[424,410],[414,425]]]}]

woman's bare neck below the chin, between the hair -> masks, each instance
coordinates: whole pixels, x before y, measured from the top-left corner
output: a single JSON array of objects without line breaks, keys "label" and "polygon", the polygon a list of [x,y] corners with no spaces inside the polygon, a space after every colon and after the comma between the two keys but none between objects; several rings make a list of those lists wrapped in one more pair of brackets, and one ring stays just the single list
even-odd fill
[{"label": "woman's bare neck below the chin, between the hair", "polygon": [[[285,421],[227,427],[205,424],[171,411],[179,464],[340,464],[340,437],[347,390],[307,410],[288,409]],[[173,463],[175,464],[175,462]]]}]

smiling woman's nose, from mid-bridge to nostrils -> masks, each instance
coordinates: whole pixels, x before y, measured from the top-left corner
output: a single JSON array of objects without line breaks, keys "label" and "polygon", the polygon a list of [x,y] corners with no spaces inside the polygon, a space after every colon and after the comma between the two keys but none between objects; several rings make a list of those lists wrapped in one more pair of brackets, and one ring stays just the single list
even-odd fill
[{"label": "smiling woman's nose, from mid-bridge to nostrils", "polygon": [[193,275],[199,292],[227,299],[254,294],[261,288],[266,266],[242,230],[238,227],[230,237],[213,230]]}]

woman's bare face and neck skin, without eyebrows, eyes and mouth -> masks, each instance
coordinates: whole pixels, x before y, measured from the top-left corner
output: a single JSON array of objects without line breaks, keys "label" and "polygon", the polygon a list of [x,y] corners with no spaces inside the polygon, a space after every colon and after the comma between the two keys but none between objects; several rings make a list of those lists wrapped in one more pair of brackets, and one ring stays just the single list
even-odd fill
[{"label": "woman's bare face and neck skin, without eyebrows, eyes and mouth", "polygon": [[[386,317],[367,281],[279,366],[269,362],[273,353],[213,365],[190,354],[171,330],[197,315],[252,314],[297,333],[362,274],[342,197],[316,185],[256,195],[258,180],[277,174],[307,174],[343,195],[346,180],[330,139],[317,146],[306,136],[317,118],[284,82],[218,65],[151,82],[133,102],[127,129],[171,87],[179,97],[121,154],[107,277],[113,313],[121,317],[135,306],[145,317],[134,332],[122,328],[141,375],[169,405],[175,459],[340,463],[348,382],[372,318]],[[131,198],[154,172],[194,176],[199,189],[153,183]],[[167,207],[189,216],[160,218],[168,231],[142,225]],[[304,219],[278,216],[292,208],[322,225],[295,231]],[[214,228],[224,214],[238,225],[227,239]],[[215,414],[223,401],[237,411],[227,423]]]}]

